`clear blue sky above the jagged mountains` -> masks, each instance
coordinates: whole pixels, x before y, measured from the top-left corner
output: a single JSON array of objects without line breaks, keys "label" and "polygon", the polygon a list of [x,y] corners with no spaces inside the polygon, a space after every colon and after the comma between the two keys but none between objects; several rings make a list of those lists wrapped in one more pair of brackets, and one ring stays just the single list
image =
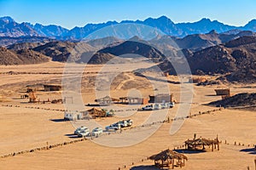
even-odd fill
[{"label": "clear blue sky above the jagged mountains", "polygon": [[256,19],[256,0],[0,0],[0,16],[17,22],[68,29],[108,20],[145,20],[166,15],[173,22],[201,18],[244,26]]}]

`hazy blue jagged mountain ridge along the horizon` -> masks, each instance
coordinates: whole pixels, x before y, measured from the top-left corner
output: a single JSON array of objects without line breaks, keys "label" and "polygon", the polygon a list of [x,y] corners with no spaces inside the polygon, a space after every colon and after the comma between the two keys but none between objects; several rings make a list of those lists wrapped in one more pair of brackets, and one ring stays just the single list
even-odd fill
[{"label": "hazy blue jagged mountain ridge along the horizon", "polygon": [[[43,26],[41,24],[32,25],[30,23],[22,22],[17,23],[9,16],[0,18],[0,37],[54,37],[59,40],[80,40],[89,36],[92,32],[98,31],[106,26],[113,26],[119,24],[137,24],[144,26],[151,26],[162,31],[164,34],[175,37],[185,37],[191,34],[205,34],[209,31],[215,30],[218,33],[229,32],[232,30],[241,31],[256,31],[256,20],[251,20],[246,26],[229,26],[225,25],[218,20],[202,19],[194,23],[177,23],[175,24],[166,16],[153,19],[148,18],[146,20],[123,20],[121,22],[108,21],[100,24],[87,24],[84,27],[74,27],[71,30],[63,28],[61,26],[49,25]],[[139,36],[140,29],[136,29],[137,26],[125,27],[113,27],[113,32],[106,37],[117,37],[129,39],[133,36]],[[122,35],[115,32],[124,32]],[[154,34],[154,32],[150,32]],[[112,34],[112,35],[111,35]],[[130,36],[130,37],[129,37]],[[97,37],[101,38],[101,37]],[[94,38],[96,39],[96,38]]]}]

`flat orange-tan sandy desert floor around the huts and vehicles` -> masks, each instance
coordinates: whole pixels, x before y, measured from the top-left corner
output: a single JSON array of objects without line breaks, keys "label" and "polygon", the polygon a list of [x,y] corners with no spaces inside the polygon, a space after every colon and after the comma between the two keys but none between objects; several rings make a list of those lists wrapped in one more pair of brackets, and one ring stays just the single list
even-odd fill
[{"label": "flat orange-tan sandy desert floor around the huts and vehicles", "polygon": [[[139,93],[146,97],[154,93],[154,87],[147,79],[134,76],[131,71],[145,65],[111,65],[108,73],[120,70],[125,73],[111,84],[112,97],[118,98],[129,94],[131,88],[137,88]],[[69,71],[79,71],[74,65]],[[22,150],[32,150],[51,144],[59,144],[74,139],[71,135],[79,122],[63,121],[62,104],[32,104],[28,99],[20,99],[20,94],[26,91],[26,85],[35,83],[61,83],[62,72],[65,64],[49,62],[40,65],[9,65],[0,66],[1,82],[0,94],[3,102],[0,103],[0,156],[9,153],[17,153]],[[83,68],[82,68],[83,69]],[[13,71],[10,73],[9,71]],[[84,104],[95,103],[96,93],[94,78],[104,76],[102,65],[86,65],[82,79],[82,96]],[[72,74],[70,73],[72,76]],[[100,77],[100,76],[98,76]],[[214,77],[209,77],[214,78]],[[172,81],[178,81],[177,77],[169,77]],[[179,84],[168,84],[177,101],[180,99],[181,87]],[[232,94],[256,92],[255,84],[227,84],[207,87],[194,85],[193,100],[190,105],[191,114],[199,111],[212,111],[217,108],[204,105],[210,101],[221,99],[215,96],[214,88],[230,88]],[[252,87],[252,88],[250,88]],[[129,90],[130,89],[130,90]],[[135,90],[135,92],[137,92]],[[61,92],[36,92],[38,98],[61,99]],[[1,97],[0,96],[0,97]],[[7,106],[8,105],[8,106]],[[11,105],[11,106],[10,106]],[[166,116],[173,118],[182,104],[166,111]],[[122,105],[124,110],[126,105]],[[131,106],[141,107],[138,105]],[[47,110],[49,109],[49,110]],[[90,107],[84,107],[84,110]],[[188,156],[183,169],[250,169],[254,168],[256,152],[252,150],[256,144],[255,111],[242,111],[223,109],[209,114],[193,116],[185,119],[183,126],[177,133],[170,134],[173,122],[160,124],[160,128],[148,138],[138,144],[124,147],[109,147],[101,143],[113,138],[117,145],[125,143],[122,135],[130,135],[136,139],[137,135],[148,133],[151,127],[140,127],[150,111],[137,111],[127,113],[127,118],[134,121],[134,127],[122,133],[104,135],[98,139],[84,140],[74,144],[62,145],[50,150],[36,150],[16,156],[0,158],[0,169],[154,169],[154,161],[149,161],[148,156],[159,153],[161,150],[174,149],[182,146],[186,139],[192,139],[196,133],[198,137],[218,139],[222,141],[220,150],[207,150],[202,153],[184,153]],[[154,113],[153,113],[154,114]],[[157,114],[157,112],[155,112]],[[122,118],[118,116],[96,119],[102,127],[116,122]],[[85,122],[82,122],[86,123]],[[234,144],[236,141],[236,145]],[[239,145],[240,143],[240,145]]]}]

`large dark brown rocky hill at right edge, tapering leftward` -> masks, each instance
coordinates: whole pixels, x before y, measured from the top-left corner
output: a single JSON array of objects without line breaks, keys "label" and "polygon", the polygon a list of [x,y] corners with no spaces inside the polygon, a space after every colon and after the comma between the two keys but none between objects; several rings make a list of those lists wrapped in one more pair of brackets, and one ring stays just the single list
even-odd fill
[{"label": "large dark brown rocky hill at right edge, tapering leftward", "polygon": [[[230,82],[256,82],[256,37],[239,37],[224,44],[192,52],[183,49],[158,67],[171,74],[226,74]],[[171,61],[171,62],[170,62]],[[186,65],[186,62],[189,64]],[[175,69],[176,68],[176,69]],[[183,69],[181,69],[183,68]],[[149,68],[148,70],[154,70]]]}]

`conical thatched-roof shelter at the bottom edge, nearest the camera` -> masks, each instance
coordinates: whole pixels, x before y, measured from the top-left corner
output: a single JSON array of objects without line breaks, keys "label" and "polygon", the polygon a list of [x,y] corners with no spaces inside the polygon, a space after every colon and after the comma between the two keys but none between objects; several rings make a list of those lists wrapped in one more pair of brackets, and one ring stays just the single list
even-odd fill
[{"label": "conical thatched-roof shelter at the bottom edge, nearest the camera", "polygon": [[185,160],[188,161],[188,157],[183,154],[177,153],[174,150],[164,150],[159,154],[153,155],[149,157],[150,160],[154,160],[154,165],[160,168],[170,168],[172,165],[172,169],[174,166],[176,167],[184,167]]}]

